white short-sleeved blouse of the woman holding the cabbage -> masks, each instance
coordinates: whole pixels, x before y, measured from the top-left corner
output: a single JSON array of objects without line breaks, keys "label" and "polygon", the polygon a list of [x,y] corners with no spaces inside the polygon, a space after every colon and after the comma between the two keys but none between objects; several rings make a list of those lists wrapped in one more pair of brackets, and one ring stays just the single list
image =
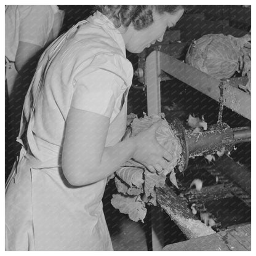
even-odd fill
[{"label": "white short-sleeved blouse of the woman holding the cabbage", "polygon": [[106,146],[126,129],[127,92],[133,68],[124,40],[105,15],[96,12],[67,40],[52,61],[34,113],[37,142],[31,153],[42,161],[62,150],[70,108],[110,118]]}]

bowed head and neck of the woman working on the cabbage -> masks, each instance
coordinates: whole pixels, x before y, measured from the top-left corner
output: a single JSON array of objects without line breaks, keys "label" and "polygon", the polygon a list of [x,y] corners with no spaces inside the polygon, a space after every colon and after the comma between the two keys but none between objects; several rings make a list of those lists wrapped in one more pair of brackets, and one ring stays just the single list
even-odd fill
[{"label": "bowed head and neck of the woman working on the cabbage", "polygon": [[126,49],[132,53],[161,41],[166,29],[174,26],[184,12],[182,6],[98,6],[97,9],[121,31]]}]

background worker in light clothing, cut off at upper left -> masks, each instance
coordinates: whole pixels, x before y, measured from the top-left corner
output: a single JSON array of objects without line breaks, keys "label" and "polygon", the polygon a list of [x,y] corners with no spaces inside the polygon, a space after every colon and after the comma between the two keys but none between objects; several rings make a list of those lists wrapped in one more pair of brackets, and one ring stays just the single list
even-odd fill
[{"label": "background worker in light clothing, cut off at upper left", "polygon": [[64,12],[58,6],[6,6],[5,55],[9,97],[13,94],[18,74],[25,73],[26,69],[31,74],[35,68],[31,63],[38,60],[39,52],[57,38],[63,18]]}]

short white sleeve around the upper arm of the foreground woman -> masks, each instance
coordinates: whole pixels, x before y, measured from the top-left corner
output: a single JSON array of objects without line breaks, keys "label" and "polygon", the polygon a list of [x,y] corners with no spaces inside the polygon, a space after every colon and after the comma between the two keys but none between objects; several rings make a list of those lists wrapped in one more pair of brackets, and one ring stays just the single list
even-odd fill
[{"label": "short white sleeve around the upper arm of the foreground woman", "polygon": [[71,107],[111,118],[120,85],[115,74],[106,70],[95,70],[80,76],[74,87]]}]

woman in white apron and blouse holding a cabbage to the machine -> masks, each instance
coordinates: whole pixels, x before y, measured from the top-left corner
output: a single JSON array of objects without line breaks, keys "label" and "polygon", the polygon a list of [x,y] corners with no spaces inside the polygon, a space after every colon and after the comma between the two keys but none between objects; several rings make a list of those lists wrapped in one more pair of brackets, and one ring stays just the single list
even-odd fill
[{"label": "woman in white apron and blouse holding a cabbage to the machine", "polygon": [[112,250],[106,178],[130,158],[151,171],[172,158],[156,141],[159,124],[121,142],[133,75],[126,49],[142,52],[182,14],[182,6],[98,6],[44,52],[7,183],[7,250]]}]

